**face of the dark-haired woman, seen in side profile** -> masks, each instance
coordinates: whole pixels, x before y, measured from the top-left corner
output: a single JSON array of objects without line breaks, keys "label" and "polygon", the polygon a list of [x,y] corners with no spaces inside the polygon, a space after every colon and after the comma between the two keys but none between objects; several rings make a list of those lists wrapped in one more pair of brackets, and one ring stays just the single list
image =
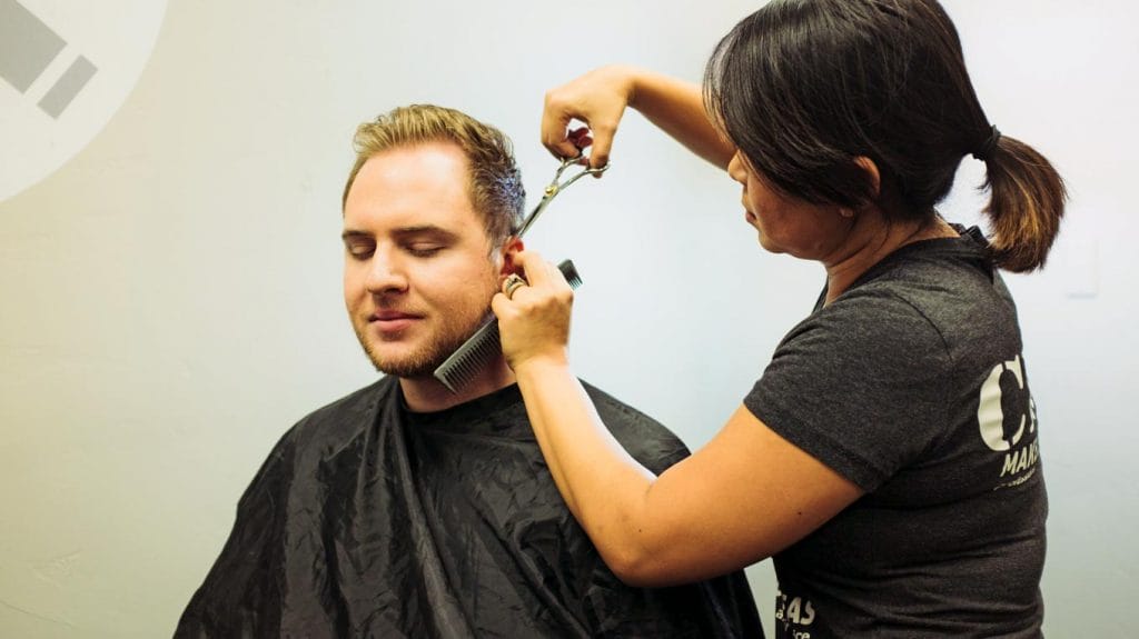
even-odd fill
[{"label": "face of the dark-haired woman, seen in side profile", "polygon": [[839,256],[852,226],[851,216],[843,215],[841,207],[816,205],[779,191],[738,150],[728,164],[728,174],[744,186],[744,217],[759,231],[760,246],[823,264]]}]

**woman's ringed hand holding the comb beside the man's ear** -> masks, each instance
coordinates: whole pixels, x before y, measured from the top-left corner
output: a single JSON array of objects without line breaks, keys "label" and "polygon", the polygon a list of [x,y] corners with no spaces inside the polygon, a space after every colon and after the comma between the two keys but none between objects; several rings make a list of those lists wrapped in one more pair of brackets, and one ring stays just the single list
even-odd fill
[{"label": "woman's ringed hand holding the comb beside the man's ear", "polygon": [[491,299],[507,364],[515,371],[539,360],[564,364],[573,289],[556,266],[534,251],[518,252],[515,263],[522,266],[526,283],[508,296],[508,279]]}]

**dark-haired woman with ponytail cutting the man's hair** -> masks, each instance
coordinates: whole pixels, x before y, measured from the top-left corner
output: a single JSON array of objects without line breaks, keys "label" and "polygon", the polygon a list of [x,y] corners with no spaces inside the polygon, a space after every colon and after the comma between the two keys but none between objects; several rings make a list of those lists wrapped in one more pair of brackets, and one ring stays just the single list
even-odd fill
[{"label": "dark-haired woman with ponytail cutting the man's hair", "polygon": [[[724,167],[760,244],[827,281],[715,438],[657,478],[571,372],[570,288],[521,255],[528,285],[493,300],[503,351],[606,562],[657,586],[773,557],[779,637],[1039,636],[1047,497],[998,268],[1043,264],[1065,192],[986,119],[942,7],[776,0],[720,42],[703,93],[603,68],[547,96],[543,140],[574,155],[577,118],[604,164],[626,106]],[[934,208],[969,155],[988,241]]]}]

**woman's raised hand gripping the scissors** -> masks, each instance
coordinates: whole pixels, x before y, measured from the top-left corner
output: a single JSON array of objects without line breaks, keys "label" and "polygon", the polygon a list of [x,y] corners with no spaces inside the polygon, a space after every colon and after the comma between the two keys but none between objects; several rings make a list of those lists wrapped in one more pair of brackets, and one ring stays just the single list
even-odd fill
[{"label": "woman's raised hand gripping the scissors", "polygon": [[633,99],[637,72],[632,67],[611,65],[593,69],[546,93],[542,111],[542,144],[557,158],[572,158],[581,152],[575,143],[580,134],[570,131],[577,119],[591,132],[593,150],[591,168],[609,163],[609,149],[621,116]]}]

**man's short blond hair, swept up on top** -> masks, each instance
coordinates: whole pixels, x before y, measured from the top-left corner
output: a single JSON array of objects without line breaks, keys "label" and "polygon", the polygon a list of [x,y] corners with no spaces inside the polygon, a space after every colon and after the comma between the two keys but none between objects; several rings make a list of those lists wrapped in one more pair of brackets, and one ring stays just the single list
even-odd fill
[{"label": "man's short blond hair, swept up on top", "polygon": [[342,209],[369,158],[426,142],[453,142],[462,149],[470,175],[470,201],[486,223],[486,234],[495,244],[510,236],[522,221],[526,192],[509,138],[462,111],[434,105],[399,107],[357,128],[357,159],[344,185]]}]

